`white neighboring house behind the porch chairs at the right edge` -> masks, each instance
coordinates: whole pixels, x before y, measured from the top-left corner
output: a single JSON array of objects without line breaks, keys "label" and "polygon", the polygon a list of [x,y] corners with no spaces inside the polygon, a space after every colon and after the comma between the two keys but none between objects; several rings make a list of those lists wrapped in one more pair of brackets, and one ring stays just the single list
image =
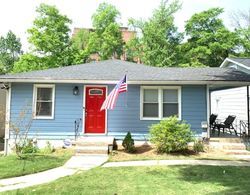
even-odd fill
[{"label": "white neighboring house behind the porch chairs at the right edge", "polygon": [[[249,74],[250,58],[226,58],[220,66]],[[235,127],[240,131],[240,121],[249,121],[249,86],[214,91],[211,94],[211,112],[223,120],[228,115],[235,115]]]}]

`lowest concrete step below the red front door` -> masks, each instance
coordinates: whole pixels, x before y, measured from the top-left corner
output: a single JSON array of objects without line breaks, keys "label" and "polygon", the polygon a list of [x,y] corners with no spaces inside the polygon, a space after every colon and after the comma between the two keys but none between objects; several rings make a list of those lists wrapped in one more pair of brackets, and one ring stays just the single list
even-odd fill
[{"label": "lowest concrete step below the red front door", "polygon": [[76,154],[108,154],[108,146],[76,146]]}]

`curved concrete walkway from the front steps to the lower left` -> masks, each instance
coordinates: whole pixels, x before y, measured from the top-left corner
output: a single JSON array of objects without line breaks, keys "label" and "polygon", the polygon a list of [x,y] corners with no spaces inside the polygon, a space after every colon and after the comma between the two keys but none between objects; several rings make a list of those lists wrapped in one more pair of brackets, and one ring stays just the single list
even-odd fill
[{"label": "curved concrete walkway from the front steps to the lower left", "polygon": [[73,156],[62,167],[21,177],[1,179],[0,192],[49,183],[61,177],[73,175],[78,171],[100,166],[107,160],[108,155]]}]

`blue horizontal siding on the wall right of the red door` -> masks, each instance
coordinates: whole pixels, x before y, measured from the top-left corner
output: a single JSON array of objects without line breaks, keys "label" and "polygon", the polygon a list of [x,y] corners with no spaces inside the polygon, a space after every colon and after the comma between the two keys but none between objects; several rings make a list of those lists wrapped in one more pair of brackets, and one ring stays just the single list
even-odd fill
[{"label": "blue horizontal siding on the wall right of the red door", "polygon": [[[109,91],[114,86],[109,86]],[[201,121],[207,120],[206,86],[183,85],[181,87],[182,120],[191,125],[197,134],[202,132]],[[116,108],[108,111],[108,133],[120,135],[127,131],[147,134],[149,126],[158,120],[140,120],[140,86],[130,85],[128,93],[122,93]]]}]

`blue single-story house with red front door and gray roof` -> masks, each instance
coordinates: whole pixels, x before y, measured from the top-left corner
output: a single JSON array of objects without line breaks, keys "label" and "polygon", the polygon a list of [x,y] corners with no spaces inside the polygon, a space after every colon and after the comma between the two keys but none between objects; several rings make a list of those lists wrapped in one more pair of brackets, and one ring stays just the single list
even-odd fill
[{"label": "blue single-story house with red front door and gray roof", "polygon": [[[104,99],[125,73],[128,92],[120,94],[114,110],[101,112]],[[4,75],[0,82],[10,87],[7,121],[15,123],[28,109],[28,119],[33,118],[29,136],[56,143],[74,138],[79,118],[81,136],[121,139],[130,131],[134,138],[145,139],[150,125],[172,115],[200,135],[201,122],[210,115],[209,90],[245,86],[250,77],[225,68],[160,68],[106,60]]]}]

